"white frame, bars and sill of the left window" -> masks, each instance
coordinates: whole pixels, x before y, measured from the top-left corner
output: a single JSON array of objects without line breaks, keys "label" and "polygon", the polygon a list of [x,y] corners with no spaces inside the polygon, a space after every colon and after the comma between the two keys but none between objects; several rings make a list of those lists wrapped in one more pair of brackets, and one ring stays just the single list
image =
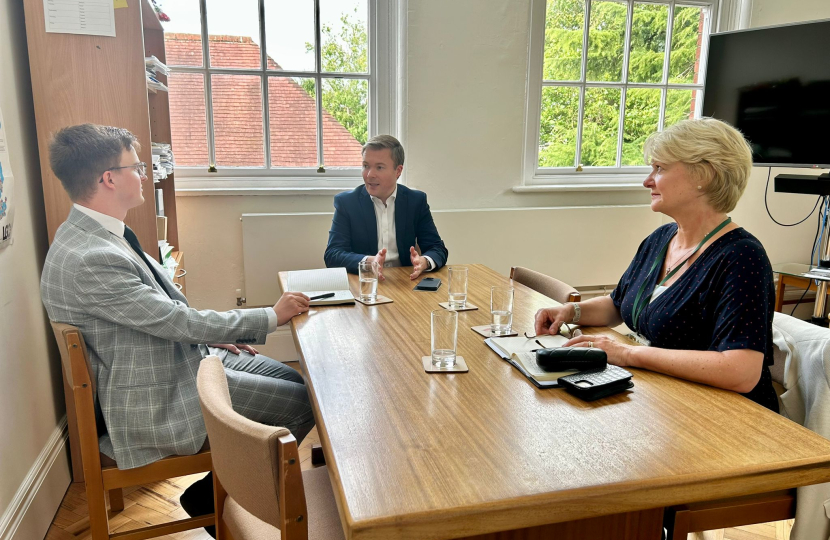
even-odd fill
[{"label": "white frame, bars and sill of the left window", "polygon": [[[325,166],[324,172],[317,167],[271,167],[270,165],[270,126],[268,103],[268,77],[295,76],[314,78],[316,80],[315,99],[317,102],[317,151],[322,155],[322,87],[320,81],[324,78],[353,78],[368,81],[368,130],[369,136],[379,133],[388,133],[397,136],[400,132],[401,119],[398,111],[402,96],[398,92],[399,64],[403,58],[401,44],[405,37],[407,0],[368,0],[368,55],[369,73],[328,73],[320,70],[321,51],[315,47],[316,70],[313,72],[274,71],[267,69],[267,47],[265,45],[265,22],[263,10],[265,0],[258,0],[260,53],[262,57],[259,69],[235,69],[210,67],[209,42],[207,35],[206,0],[200,0],[200,18],[202,23],[202,58],[200,67],[175,66],[171,71],[175,73],[199,73],[205,80],[205,120],[207,126],[208,152],[211,163],[214,159],[214,131],[210,75],[254,75],[262,80],[262,116],[263,116],[263,146],[265,151],[265,166],[263,167],[220,167],[215,173],[208,172],[207,166],[185,167],[176,166],[176,191],[182,194],[217,195],[234,193],[242,194],[293,194],[317,193],[329,194],[353,188],[362,182],[360,167]],[[321,43],[319,0],[315,5],[315,33],[316,42]],[[175,155],[176,149],[173,148]]]}]

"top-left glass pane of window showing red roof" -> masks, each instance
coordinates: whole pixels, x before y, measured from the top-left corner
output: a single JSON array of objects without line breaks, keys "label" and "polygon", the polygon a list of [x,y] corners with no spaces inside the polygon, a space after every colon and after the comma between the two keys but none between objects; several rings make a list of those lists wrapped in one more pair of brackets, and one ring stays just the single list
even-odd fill
[{"label": "top-left glass pane of window showing red roof", "polygon": [[164,54],[168,66],[202,66],[202,19],[199,0],[167,2],[170,20],[164,27]]}]

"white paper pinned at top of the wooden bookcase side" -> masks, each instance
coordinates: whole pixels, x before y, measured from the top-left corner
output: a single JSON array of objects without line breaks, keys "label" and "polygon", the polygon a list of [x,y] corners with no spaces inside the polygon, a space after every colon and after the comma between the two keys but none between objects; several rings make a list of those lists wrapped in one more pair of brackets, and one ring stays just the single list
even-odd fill
[{"label": "white paper pinned at top of the wooden bookcase side", "polygon": [[46,32],[115,37],[113,0],[43,0]]}]

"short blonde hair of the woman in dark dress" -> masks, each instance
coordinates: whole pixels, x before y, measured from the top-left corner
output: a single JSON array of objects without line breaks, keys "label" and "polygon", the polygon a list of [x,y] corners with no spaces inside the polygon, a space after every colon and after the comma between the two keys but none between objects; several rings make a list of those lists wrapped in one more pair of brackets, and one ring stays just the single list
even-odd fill
[{"label": "short blonde hair of the woman in dark dress", "polygon": [[683,120],[654,133],[643,148],[646,162],[683,163],[701,182],[709,204],[731,212],[752,170],[752,149],[740,131],[714,118]]}]

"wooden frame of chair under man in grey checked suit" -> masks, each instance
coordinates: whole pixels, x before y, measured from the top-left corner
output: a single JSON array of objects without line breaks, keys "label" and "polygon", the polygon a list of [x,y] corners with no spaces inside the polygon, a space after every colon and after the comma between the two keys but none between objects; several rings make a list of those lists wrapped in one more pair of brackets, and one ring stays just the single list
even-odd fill
[{"label": "wooden frame of chair under man in grey checked suit", "polygon": [[210,450],[206,443],[202,451],[192,456],[171,456],[144,467],[119,469],[112,459],[101,454],[98,449],[98,425],[94,409],[95,381],[81,332],[74,326],[56,322],[52,322],[52,330],[61,352],[66,387],[72,394],[71,399],[67,396],[66,400],[67,415],[72,415],[77,422],[92,540],[143,540],[214,525],[215,514],[209,514],[126,532],[110,532],[105,492],[109,493],[111,510],[120,512],[124,509],[123,488],[208,472],[211,470]]}]

